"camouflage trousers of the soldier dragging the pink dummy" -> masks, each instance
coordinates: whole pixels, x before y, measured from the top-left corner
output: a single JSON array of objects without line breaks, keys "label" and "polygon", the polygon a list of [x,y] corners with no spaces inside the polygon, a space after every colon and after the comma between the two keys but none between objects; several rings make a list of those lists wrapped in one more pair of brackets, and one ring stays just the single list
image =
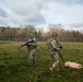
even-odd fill
[{"label": "camouflage trousers of the soldier dragging the pink dummy", "polygon": [[58,66],[59,66],[59,55],[58,55],[58,51],[50,51],[50,56],[52,58],[52,66],[51,66],[51,68],[52,69],[58,68]]}]

